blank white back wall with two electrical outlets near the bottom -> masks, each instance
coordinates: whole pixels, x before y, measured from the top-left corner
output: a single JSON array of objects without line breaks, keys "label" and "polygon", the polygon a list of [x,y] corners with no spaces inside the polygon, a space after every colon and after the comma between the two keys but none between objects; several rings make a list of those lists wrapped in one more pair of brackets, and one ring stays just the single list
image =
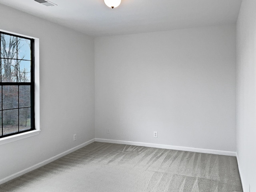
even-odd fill
[{"label": "blank white back wall with two electrical outlets near the bottom", "polygon": [[94,45],[96,138],[236,151],[235,25]]}]

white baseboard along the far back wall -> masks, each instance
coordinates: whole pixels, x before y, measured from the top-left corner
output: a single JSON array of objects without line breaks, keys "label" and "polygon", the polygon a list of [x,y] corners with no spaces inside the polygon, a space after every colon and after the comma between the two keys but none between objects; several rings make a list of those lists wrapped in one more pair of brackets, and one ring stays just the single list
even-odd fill
[{"label": "white baseboard along the far back wall", "polygon": [[164,145],[164,144],[100,139],[100,138],[95,138],[95,141],[105,142],[105,143],[126,144],[126,145],[136,145],[136,146],[154,147],[154,148],[162,148],[162,149],[190,151],[190,152],[199,152],[199,153],[208,153],[208,154],[216,154],[216,155],[236,156],[236,152],[232,152],[232,151],[201,149],[201,148],[192,148],[192,147],[181,147],[181,146],[172,146],[172,145]]}]

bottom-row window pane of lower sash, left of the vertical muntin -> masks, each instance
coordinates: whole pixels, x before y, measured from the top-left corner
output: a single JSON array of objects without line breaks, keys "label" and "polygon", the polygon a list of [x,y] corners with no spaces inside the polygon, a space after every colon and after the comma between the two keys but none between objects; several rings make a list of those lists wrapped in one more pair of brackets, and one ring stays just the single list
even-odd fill
[{"label": "bottom-row window pane of lower sash, left of the vertical muntin", "polygon": [[18,109],[4,110],[3,112],[3,134],[18,131]]}]

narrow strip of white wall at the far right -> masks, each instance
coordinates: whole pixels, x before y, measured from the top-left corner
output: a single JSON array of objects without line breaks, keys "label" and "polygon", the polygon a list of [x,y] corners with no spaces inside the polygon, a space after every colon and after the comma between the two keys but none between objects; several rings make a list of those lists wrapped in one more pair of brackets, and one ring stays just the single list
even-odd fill
[{"label": "narrow strip of white wall at the far right", "polygon": [[237,153],[244,192],[256,192],[256,1],[237,21]]}]

